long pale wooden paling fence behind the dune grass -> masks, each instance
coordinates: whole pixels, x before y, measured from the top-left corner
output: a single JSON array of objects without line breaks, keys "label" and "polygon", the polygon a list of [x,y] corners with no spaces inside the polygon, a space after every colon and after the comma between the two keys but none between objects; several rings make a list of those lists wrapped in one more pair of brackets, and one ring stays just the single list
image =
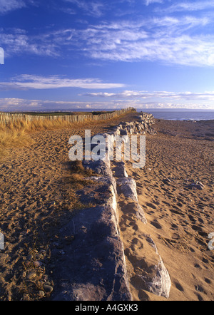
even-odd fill
[{"label": "long pale wooden paling fence behind the dune grass", "polygon": [[108,120],[111,118],[116,118],[120,115],[124,115],[129,112],[136,111],[135,108],[129,107],[129,108],[124,108],[121,110],[115,110],[113,112],[103,112],[101,114],[96,114],[95,113],[86,113],[86,114],[81,114],[81,115],[73,115],[71,114],[63,114],[63,113],[58,113],[57,115],[26,115],[24,113],[0,113],[0,124],[1,125],[6,125],[8,123],[13,123],[18,120],[25,121],[26,123],[31,123],[34,120],[63,120],[66,123],[78,123],[78,122],[83,122],[86,120]]}]

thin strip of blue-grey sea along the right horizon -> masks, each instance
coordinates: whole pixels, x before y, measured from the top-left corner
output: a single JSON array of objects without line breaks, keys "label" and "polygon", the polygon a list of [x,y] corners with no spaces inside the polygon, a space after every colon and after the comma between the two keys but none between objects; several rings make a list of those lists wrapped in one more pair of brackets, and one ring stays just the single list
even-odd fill
[{"label": "thin strip of blue-grey sea along the right horizon", "polygon": [[149,110],[138,112],[151,113],[154,118],[165,120],[214,120],[214,110]]}]

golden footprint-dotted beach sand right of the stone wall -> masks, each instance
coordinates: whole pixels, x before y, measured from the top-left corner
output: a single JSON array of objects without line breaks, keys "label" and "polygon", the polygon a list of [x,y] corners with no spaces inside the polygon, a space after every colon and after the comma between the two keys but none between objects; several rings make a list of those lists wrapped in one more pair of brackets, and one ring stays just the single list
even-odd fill
[{"label": "golden footprint-dotted beach sand right of the stone wall", "polygon": [[[141,234],[150,234],[172,282],[168,301],[213,301],[214,252],[208,234],[214,232],[213,122],[157,120],[158,135],[146,136],[146,166],[128,176],[136,180],[139,204],[148,220],[143,224],[121,205],[121,235],[136,301],[165,301],[143,291],[136,274],[147,256]],[[203,190],[190,189],[192,181]]]}]

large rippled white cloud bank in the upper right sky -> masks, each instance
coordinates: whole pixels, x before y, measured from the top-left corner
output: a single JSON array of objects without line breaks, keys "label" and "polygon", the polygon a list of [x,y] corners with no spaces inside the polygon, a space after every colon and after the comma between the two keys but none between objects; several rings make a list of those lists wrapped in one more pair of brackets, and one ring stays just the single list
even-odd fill
[{"label": "large rippled white cloud bank in the upper right sky", "polygon": [[194,16],[120,21],[72,31],[72,39],[73,44],[78,43],[85,54],[95,59],[214,66],[213,34],[192,35],[195,28],[211,22],[208,17]]}]

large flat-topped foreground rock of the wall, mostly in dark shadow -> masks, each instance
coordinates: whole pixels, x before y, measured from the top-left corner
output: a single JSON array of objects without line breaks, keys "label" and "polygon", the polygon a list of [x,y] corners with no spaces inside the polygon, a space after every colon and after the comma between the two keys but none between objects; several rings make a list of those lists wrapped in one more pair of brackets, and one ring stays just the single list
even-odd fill
[{"label": "large flat-topped foreground rock of the wall, mostly in dark shadow", "polygon": [[55,270],[59,281],[52,294],[54,301],[131,301],[118,228],[116,180],[106,176],[93,180],[98,182],[96,189],[91,187],[96,207],[78,211],[60,231],[61,239],[73,234],[73,227],[76,232]]}]

